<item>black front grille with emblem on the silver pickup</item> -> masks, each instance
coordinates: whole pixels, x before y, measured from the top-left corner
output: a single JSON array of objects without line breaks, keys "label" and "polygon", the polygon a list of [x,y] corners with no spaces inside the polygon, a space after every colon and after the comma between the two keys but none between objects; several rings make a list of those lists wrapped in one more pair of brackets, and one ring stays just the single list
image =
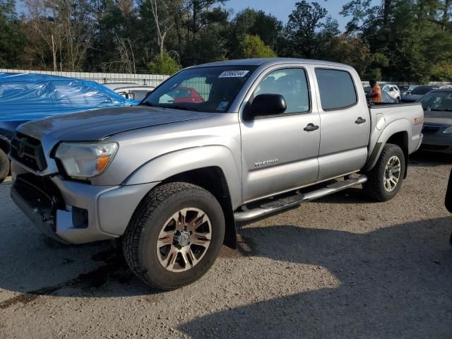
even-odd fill
[{"label": "black front grille with emblem on the silver pickup", "polygon": [[41,142],[22,133],[14,134],[11,140],[11,157],[35,171],[47,168]]}]

